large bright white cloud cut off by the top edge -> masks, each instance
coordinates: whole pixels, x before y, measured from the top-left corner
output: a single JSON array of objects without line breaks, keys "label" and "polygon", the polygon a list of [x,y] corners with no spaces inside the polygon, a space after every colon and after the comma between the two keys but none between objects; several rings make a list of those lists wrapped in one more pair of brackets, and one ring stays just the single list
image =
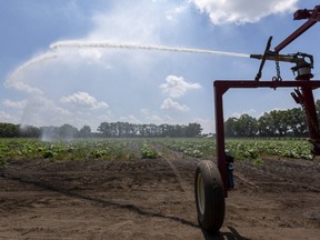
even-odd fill
[{"label": "large bright white cloud cut off by the top edge", "polygon": [[270,14],[293,11],[298,0],[191,0],[213,24],[257,22]]}]

